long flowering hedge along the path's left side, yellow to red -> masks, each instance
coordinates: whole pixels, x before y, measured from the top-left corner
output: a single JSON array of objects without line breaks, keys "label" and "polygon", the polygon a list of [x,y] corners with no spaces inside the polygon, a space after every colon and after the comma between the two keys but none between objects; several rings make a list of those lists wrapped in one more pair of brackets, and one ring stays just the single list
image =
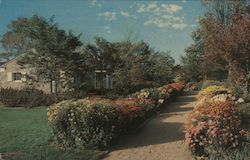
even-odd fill
[{"label": "long flowering hedge along the path's left side, yellow to red", "polygon": [[48,119],[55,140],[66,147],[107,148],[184,88],[183,83],[179,88],[175,85],[143,89],[115,100],[85,98],[54,104],[48,108]]}]

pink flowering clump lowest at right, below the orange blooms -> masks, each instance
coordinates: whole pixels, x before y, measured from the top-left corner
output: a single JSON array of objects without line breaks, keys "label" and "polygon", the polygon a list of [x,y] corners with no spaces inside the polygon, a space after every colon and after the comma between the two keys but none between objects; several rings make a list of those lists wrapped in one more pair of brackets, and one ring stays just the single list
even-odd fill
[{"label": "pink flowering clump lowest at right, below the orange blooms", "polygon": [[230,124],[227,119],[201,115],[188,129],[186,140],[194,154],[213,155],[238,147],[244,133],[240,123]]}]

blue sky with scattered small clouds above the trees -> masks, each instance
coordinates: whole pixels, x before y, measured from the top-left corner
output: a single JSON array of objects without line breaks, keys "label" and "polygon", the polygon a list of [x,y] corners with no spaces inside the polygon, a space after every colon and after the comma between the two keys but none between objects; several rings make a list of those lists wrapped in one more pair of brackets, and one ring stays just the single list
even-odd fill
[{"label": "blue sky with scattered small clouds above the trees", "polygon": [[0,36],[18,17],[55,16],[84,42],[101,36],[115,42],[132,32],[156,51],[171,51],[177,63],[192,43],[190,34],[203,15],[199,0],[0,0]]}]

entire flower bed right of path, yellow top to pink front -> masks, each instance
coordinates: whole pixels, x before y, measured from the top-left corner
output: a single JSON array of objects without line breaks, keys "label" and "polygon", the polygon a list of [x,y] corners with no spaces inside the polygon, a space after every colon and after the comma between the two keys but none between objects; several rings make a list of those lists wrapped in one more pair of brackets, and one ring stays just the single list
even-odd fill
[{"label": "entire flower bed right of path, yellow top to pink front", "polygon": [[243,119],[231,91],[222,86],[211,86],[200,91],[197,97],[186,133],[192,153],[218,158],[244,146]]}]

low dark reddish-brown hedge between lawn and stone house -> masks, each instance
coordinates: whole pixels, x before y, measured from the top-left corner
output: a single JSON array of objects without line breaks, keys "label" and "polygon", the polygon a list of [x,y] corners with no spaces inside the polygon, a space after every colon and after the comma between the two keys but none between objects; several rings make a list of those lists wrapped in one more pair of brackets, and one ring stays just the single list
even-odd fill
[{"label": "low dark reddish-brown hedge between lawn and stone house", "polygon": [[1,88],[0,101],[8,107],[37,107],[51,105],[56,98],[35,88]]}]

